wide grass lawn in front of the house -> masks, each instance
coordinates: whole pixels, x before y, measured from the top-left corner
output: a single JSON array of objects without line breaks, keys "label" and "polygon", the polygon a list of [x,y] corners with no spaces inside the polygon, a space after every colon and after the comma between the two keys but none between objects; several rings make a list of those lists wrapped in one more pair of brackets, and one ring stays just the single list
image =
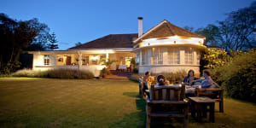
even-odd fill
[{"label": "wide grass lawn in front of the house", "polygon": [[[145,127],[137,94],[131,81],[0,78],[0,127]],[[256,127],[256,106],[225,98],[215,120],[189,117],[189,127]],[[152,119],[152,127],[182,127],[182,119],[171,121]]]}]

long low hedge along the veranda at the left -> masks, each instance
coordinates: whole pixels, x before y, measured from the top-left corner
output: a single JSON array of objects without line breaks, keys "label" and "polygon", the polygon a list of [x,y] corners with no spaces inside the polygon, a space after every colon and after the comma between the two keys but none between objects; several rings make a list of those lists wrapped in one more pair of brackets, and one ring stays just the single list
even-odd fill
[{"label": "long low hedge along the veranda at the left", "polygon": [[14,77],[29,78],[54,78],[54,79],[93,79],[93,73],[86,70],[74,69],[53,69],[48,71],[35,71],[30,69],[22,69],[13,73]]}]

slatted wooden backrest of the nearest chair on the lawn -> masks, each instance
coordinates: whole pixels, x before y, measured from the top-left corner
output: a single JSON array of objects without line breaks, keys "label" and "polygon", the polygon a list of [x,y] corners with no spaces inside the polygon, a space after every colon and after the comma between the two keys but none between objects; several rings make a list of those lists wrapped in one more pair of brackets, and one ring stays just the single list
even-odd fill
[{"label": "slatted wooden backrest of the nearest chair on the lawn", "polygon": [[183,101],[185,95],[185,86],[172,87],[172,86],[157,86],[151,85],[150,97],[151,100],[164,100],[164,101]]}]

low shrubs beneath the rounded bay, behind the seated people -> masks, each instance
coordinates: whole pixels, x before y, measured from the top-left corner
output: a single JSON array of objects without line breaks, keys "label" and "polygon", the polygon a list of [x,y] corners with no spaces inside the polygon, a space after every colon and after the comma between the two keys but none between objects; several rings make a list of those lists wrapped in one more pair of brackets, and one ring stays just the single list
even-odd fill
[{"label": "low shrubs beneath the rounded bay, behind the seated people", "polygon": [[175,73],[151,73],[151,75],[155,77],[159,75],[165,76],[165,79],[168,80],[170,84],[181,83],[187,74],[188,73],[184,70],[177,71]]}]

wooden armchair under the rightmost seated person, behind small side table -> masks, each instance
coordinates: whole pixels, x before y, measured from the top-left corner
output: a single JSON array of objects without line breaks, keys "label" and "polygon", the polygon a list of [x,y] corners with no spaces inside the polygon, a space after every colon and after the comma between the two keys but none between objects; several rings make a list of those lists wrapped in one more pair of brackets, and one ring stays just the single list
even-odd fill
[{"label": "wooden armchair under the rightmost seated person, behind small side table", "polygon": [[224,89],[216,84],[214,89],[196,89],[196,96],[207,96],[219,102],[219,112],[224,113]]}]

